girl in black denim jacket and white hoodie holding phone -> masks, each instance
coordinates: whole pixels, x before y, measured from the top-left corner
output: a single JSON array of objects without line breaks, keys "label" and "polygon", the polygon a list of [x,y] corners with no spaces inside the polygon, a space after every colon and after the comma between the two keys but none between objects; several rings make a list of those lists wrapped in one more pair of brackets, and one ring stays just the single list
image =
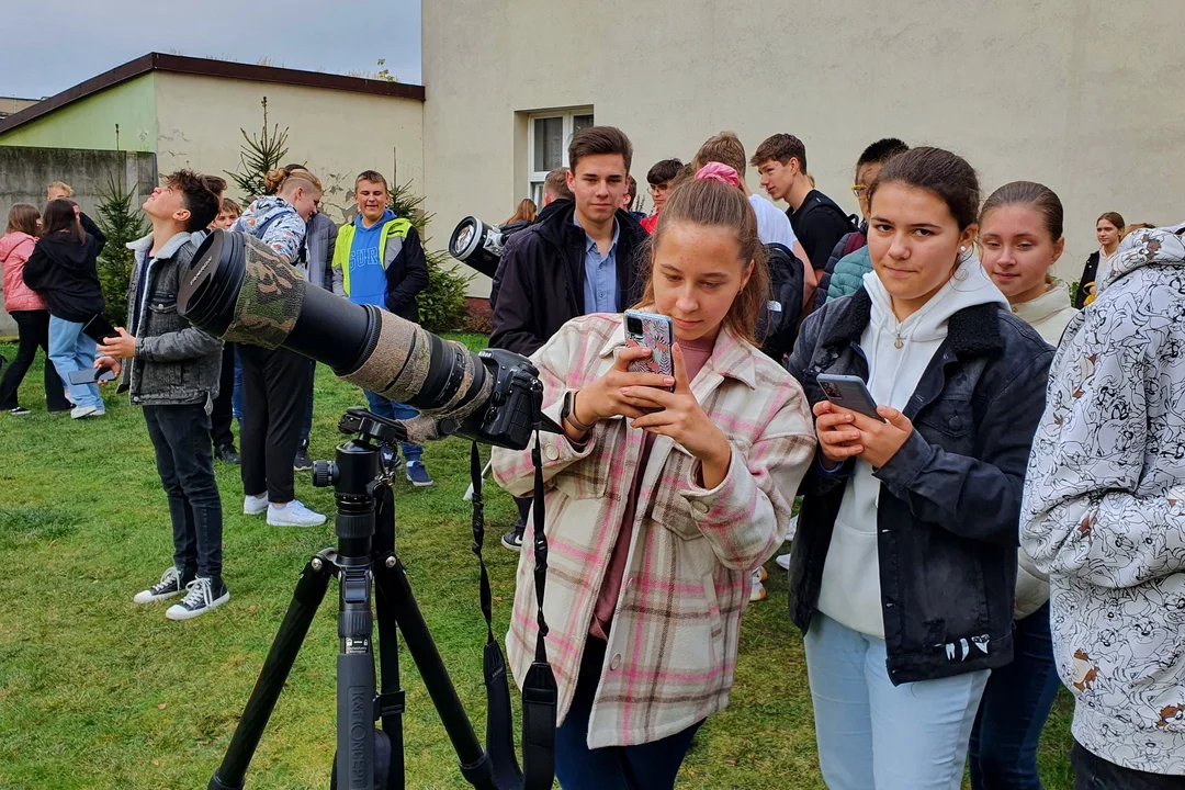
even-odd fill
[{"label": "girl in black denim jacket and white hoodie holding phone", "polygon": [[[1052,351],[974,257],[979,182],[915,148],[870,187],[863,288],[790,359],[816,464],[790,554],[831,790],[959,790],[991,670],[1012,661],[1024,469]],[[879,417],[831,404],[866,380]]]}]

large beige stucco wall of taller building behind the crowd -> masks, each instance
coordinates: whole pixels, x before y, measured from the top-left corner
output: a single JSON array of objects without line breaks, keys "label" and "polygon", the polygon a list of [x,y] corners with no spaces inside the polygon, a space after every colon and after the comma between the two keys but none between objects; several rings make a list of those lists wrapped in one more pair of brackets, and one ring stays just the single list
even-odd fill
[{"label": "large beige stucco wall of taller building behind the crowd", "polygon": [[819,188],[853,212],[856,158],[893,135],[963,154],[986,192],[1052,187],[1066,208],[1062,274],[1076,278],[1100,213],[1185,219],[1185,103],[1173,98],[1185,50],[1166,36],[1179,12],[1179,0],[434,0],[429,205],[443,225],[510,214],[525,193],[515,113],[536,109],[591,104],[630,135],[642,182],[722,129],[750,152],[790,131]]}]

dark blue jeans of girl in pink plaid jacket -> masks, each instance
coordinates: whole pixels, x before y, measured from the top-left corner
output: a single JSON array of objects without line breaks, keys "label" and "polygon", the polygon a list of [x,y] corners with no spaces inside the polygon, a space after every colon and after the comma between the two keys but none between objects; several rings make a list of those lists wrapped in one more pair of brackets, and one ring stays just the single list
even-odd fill
[{"label": "dark blue jeans of girl in pink plaid jacket", "polygon": [[667,790],[699,730],[693,724],[662,740],[636,746],[589,749],[589,715],[601,672],[604,640],[588,637],[572,706],[556,730],[556,778],[563,790]]}]

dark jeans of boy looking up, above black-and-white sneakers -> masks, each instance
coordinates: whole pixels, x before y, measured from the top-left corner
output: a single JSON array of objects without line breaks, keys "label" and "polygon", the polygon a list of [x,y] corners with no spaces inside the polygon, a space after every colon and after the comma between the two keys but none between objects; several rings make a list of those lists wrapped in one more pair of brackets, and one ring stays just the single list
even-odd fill
[{"label": "dark jeans of boy looking up, above black-and-white sneakers", "polygon": [[173,565],[188,577],[222,577],[222,499],[204,405],[145,406],[156,471],[173,521]]}]

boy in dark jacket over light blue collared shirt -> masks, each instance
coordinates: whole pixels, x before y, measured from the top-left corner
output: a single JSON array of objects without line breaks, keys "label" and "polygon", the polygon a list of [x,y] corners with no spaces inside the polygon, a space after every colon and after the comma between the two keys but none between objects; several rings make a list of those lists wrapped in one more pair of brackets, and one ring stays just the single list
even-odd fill
[{"label": "boy in dark jacket over light blue collared shirt", "polygon": [[[633,155],[629,137],[613,127],[582,129],[572,137],[566,182],[575,200],[551,203],[506,246],[492,347],[530,357],[572,319],[620,313],[640,298],[635,257],[648,233],[620,207]],[[530,499],[515,502],[519,521],[502,535],[512,551],[523,546],[530,512]]]}]

